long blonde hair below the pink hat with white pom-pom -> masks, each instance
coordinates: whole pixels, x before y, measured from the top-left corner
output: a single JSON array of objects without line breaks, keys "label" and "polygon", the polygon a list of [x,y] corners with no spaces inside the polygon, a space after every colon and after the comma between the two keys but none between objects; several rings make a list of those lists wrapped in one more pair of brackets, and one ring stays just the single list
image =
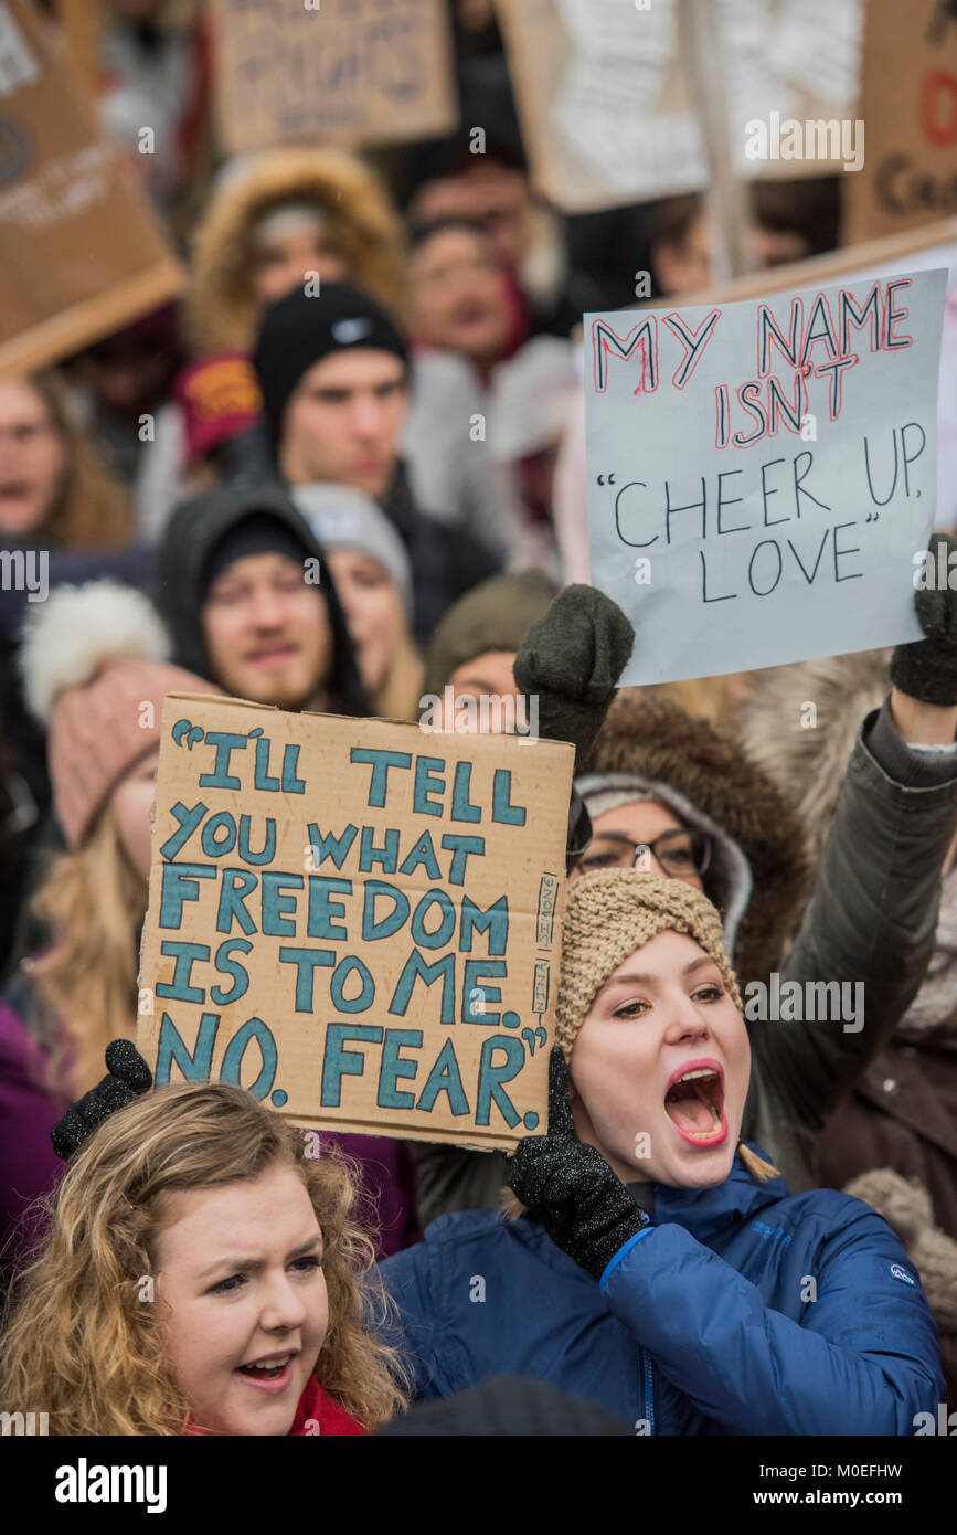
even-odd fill
[{"label": "long blonde hair below the pink hat with white pom-pom", "polygon": [[34,961],[51,1042],[51,1090],[78,1098],[103,1076],[110,1039],[136,1027],[136,959],[147,886],[133,873],[106,806],[83,847],[61,853],[32,900],[52,930],[52,949]]}]

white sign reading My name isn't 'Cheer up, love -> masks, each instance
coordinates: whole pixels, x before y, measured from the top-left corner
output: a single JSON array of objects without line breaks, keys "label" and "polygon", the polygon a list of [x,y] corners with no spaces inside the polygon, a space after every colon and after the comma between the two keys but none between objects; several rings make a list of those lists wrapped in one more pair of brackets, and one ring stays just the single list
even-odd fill
[{"label": "white sign reading My name isn't 'Cheer up, love", "polygon": [[946,272],[586,315],[592,583],[623,685],[920,639]]}]

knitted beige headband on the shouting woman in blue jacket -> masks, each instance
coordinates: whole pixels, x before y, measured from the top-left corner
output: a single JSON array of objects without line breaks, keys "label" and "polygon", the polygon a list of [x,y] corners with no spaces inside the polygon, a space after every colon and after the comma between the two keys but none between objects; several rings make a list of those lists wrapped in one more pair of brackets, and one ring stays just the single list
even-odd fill
[{"label": "knitted beige headband on the shouting woman in blue jacket", "polygon": [[561,929],[561,979],[555,1007],[555,1042],[564,1058],[607,978],[656,933],[693,938],[721,970],[741,1012],[735,972],[724,947],[718,910],[684,880],[663,880],[636,869],[598,869],[572,880]]}]

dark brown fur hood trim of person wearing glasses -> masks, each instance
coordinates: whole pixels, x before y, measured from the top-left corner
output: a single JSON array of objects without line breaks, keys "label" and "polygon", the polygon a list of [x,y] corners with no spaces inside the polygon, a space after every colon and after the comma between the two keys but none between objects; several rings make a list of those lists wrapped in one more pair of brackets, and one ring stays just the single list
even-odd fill
[{"label": "dark brown fur hood trim of person wearing glasses", "polygon": [[698,824],[718,827],[747,860],[751,896],[735,942],[744,984],[781,961],[808,892],[801,824],[765,772],[707,720],[623,688],[583,763],[586,774],[629,774],[681,797]]}]

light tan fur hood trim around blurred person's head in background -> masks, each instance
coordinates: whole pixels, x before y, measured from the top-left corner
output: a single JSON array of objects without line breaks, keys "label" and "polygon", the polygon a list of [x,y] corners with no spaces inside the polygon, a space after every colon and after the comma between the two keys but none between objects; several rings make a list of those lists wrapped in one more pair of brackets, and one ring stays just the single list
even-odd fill
[{"label": "light tan fur hood trim around blurred person's head in background", "polygon": [[270,149],[213,190],[196,227],[187,321],[198,356],[252,352],[259,322],[250,279],[252,230],[268,207],[290,200],[322,209],[350,279],[399,316],[402,224],[379,177],[339,149]]}]

